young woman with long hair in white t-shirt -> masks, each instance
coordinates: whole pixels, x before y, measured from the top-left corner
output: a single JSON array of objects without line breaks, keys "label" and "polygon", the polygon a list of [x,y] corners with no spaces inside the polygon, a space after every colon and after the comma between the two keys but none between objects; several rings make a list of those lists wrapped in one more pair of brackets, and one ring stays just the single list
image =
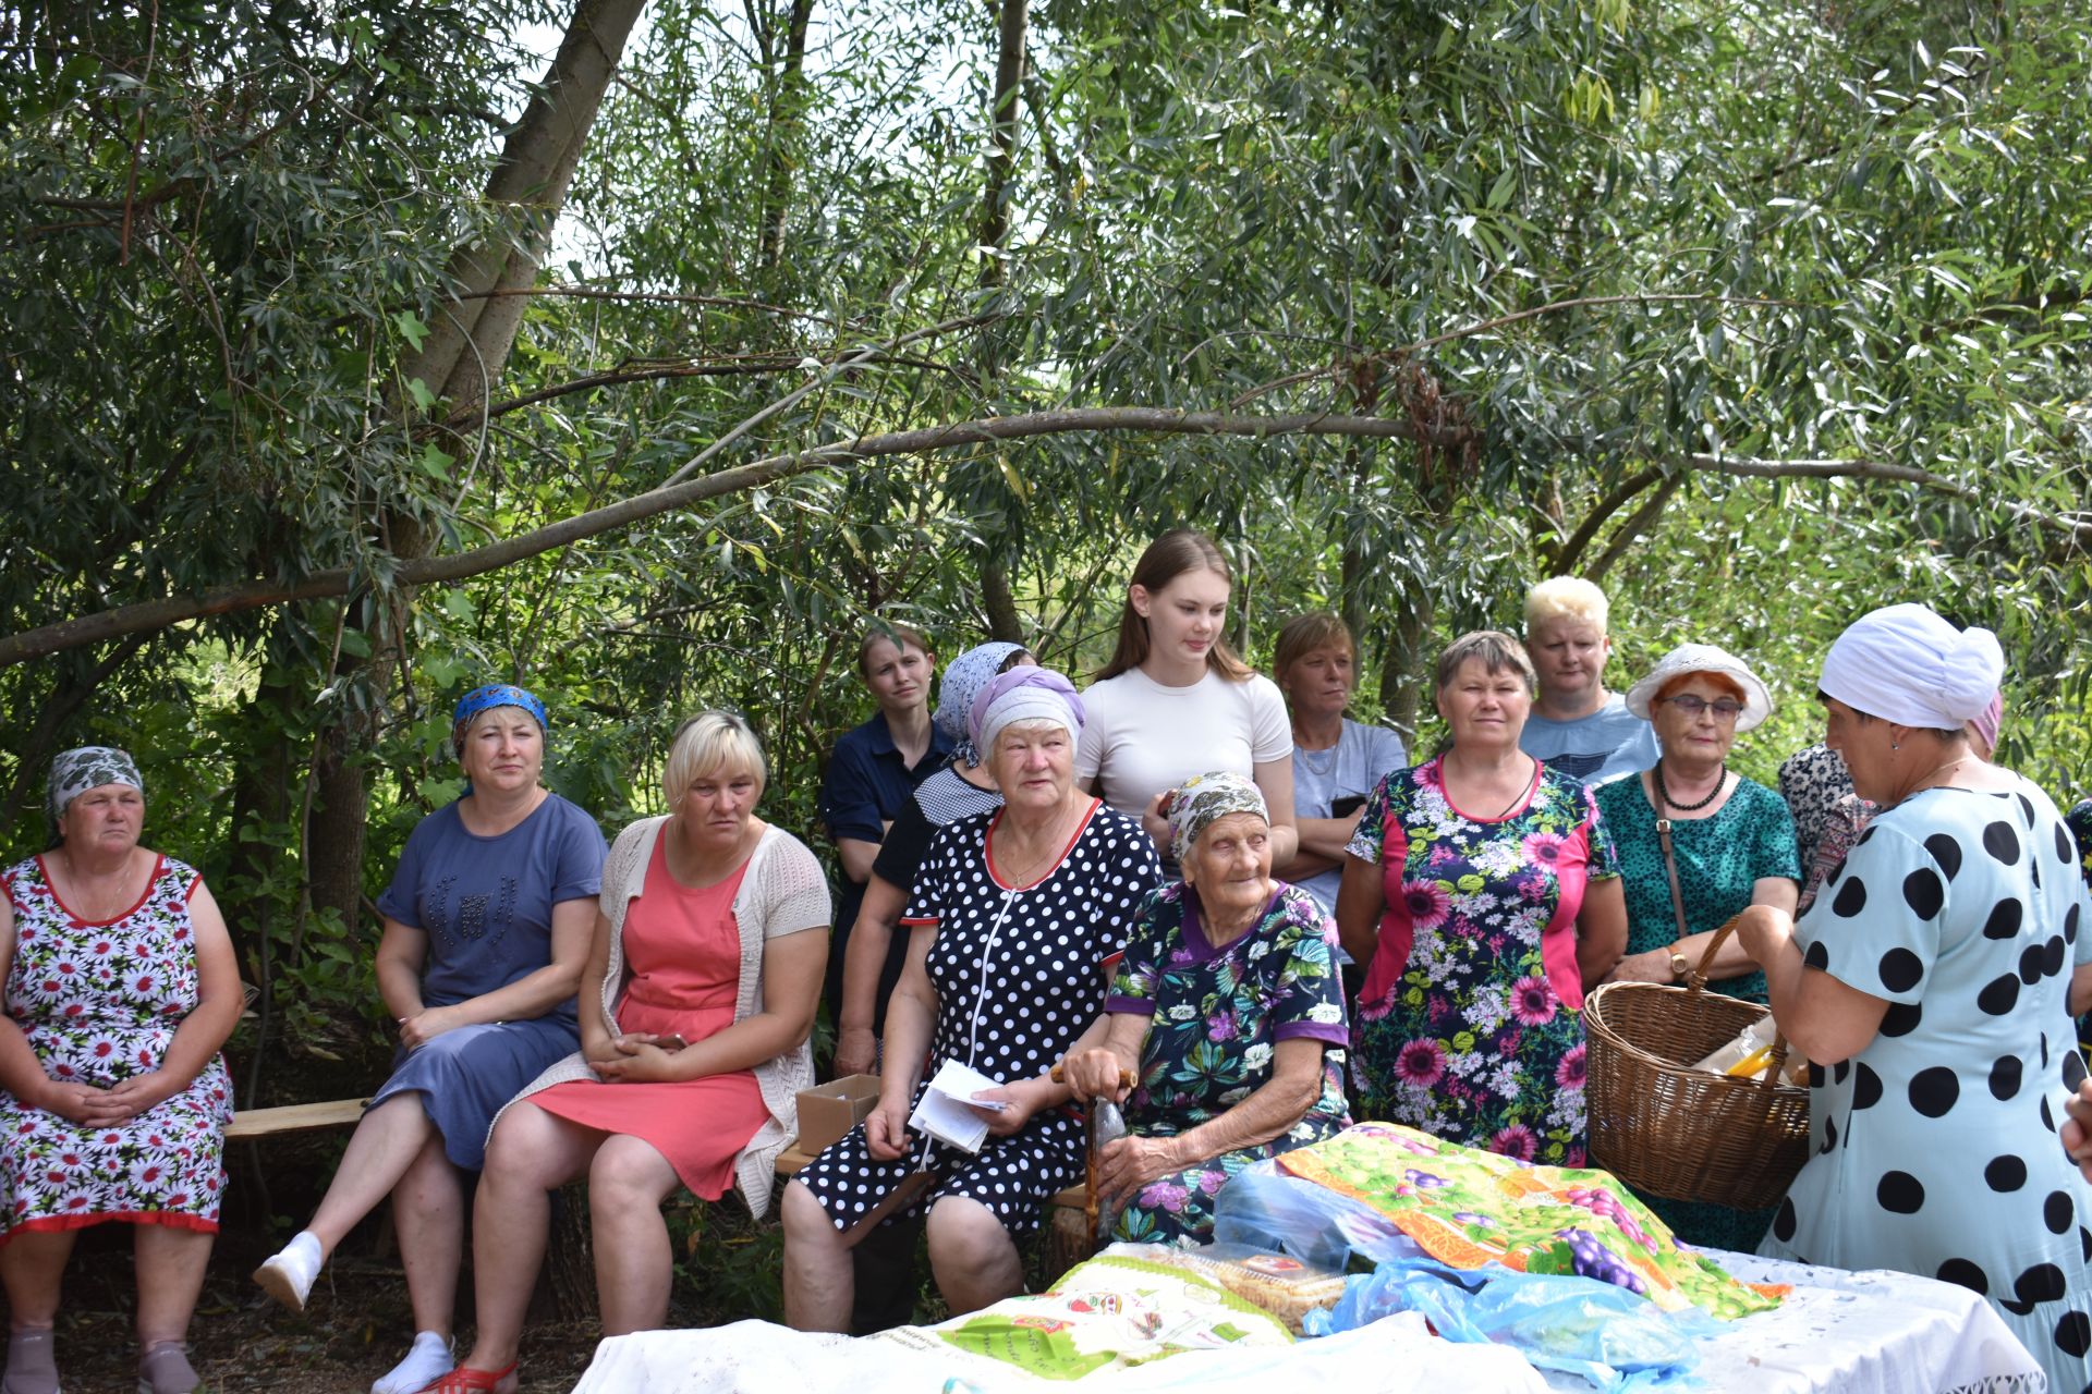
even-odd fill
[{"label": "young woman with long hair in white t-shirt", "polygon": [[1255,780],[1264,792],[1272,861],[1291,861],[1299,846],[1287,702],[1222,637],[1232,589],[1228,558],[1211,537],[1190,529],[1157,537],[1125,587],[1119,648],[1082,694],[1088,723],[1075,777],[1113,809],[1140,817],[1165,865],[1163,796],[1192,775],[1222,769]]}]

